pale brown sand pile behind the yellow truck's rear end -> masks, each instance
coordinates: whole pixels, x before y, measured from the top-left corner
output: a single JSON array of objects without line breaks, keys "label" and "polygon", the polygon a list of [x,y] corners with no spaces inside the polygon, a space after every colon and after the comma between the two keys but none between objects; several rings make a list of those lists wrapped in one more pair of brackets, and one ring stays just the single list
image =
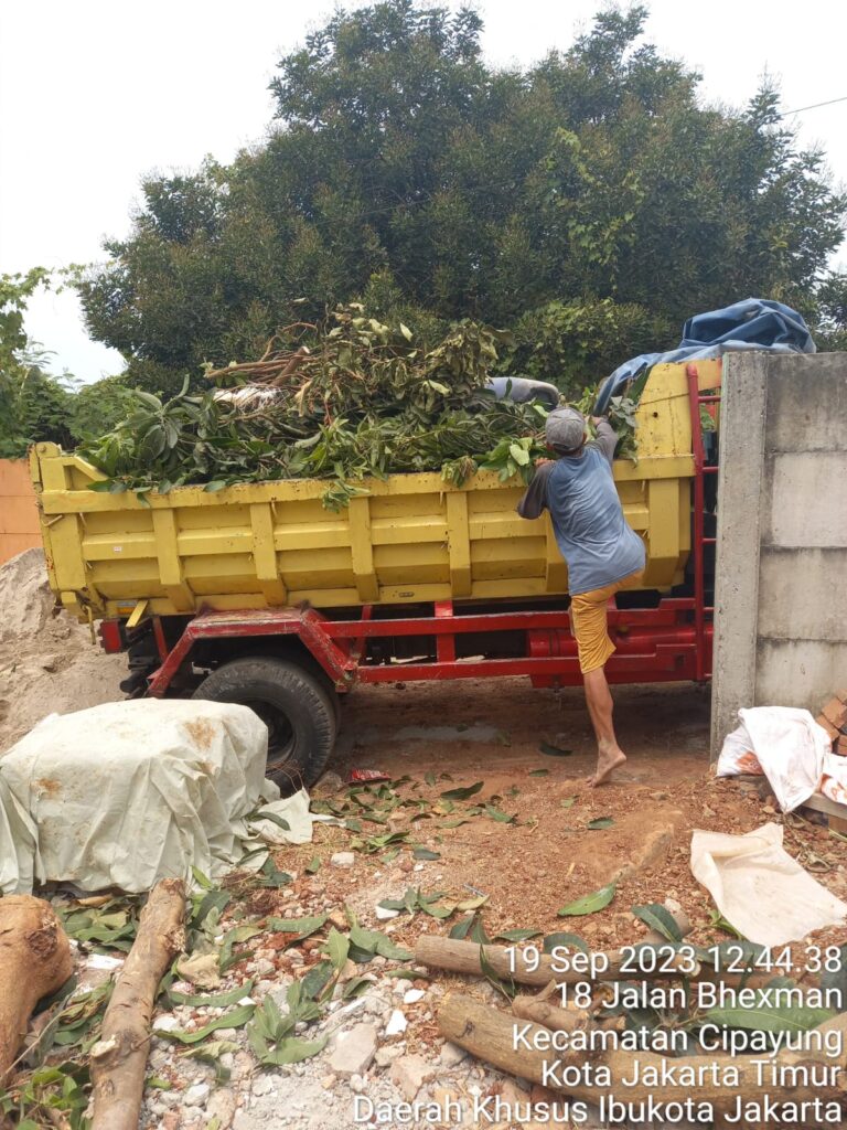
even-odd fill
[{"label": "pale brown sand pile behind the yellow truck's rear end", "polygon": [[41,549],[0,567],[0,753],[47,714],[122,698],[125,675],[125,655],[56,608]]}]

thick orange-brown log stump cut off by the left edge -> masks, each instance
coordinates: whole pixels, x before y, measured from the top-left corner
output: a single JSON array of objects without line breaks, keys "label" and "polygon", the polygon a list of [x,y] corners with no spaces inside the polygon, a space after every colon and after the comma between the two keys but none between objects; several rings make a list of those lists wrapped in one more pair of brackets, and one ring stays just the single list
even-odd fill
[{"label": "thick orange-brown log stump cut off by the left edge", "polygon": [[43,898],[0,898],[0,1083],[15,1062],[33,1009],[73,972],[70,942]]}]

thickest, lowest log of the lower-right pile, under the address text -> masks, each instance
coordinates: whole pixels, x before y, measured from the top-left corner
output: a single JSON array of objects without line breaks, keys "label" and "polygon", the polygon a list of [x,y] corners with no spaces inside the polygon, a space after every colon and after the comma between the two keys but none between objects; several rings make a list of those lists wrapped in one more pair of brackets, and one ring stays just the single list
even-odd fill
[{"label": "thickest, lowest log of the lower-right pile, under the address text", "polygon": [[[510,1075],[517,1075],[531,1083],[588,1103],[596,1103],[601,1094],[626,1103],[644,1102],[650,1096],[655,1098],[656,1087],[647,1080],[640,1081],[646,1070],[650,1068],[663,1078],[661,1098],[664,1103],[684,1103],[692,1093],[699,1102],[711,1103],[716,1111],[723,1111],[732,1105],[736,1096],[748,1101],[768,1095],[776,1103],[788,1101],[811,1103],[815,1097],[822,1102],[842,1103],[845,1099],[844,1092],[836,1081],[829,1086],[820,1084],[807,1086],[797,1083],[791,1087],[774,1086],[767,1078],[759,1083],[752,1062],[756,1057],[745,1059],[743,1055],[692,1055],[666,1059],[654,1052],[630,1052],[620,1049],[599,1050],[590,1055],[582,1050],[549,1050],[551,1036],[549,1028],[531,1022],[521,1022],[523,1037],[516,1040],[517,1022],[514,1016],[489,1005],[482,1005],[462,993],[453,993],[445,999],[438,1009],[437,1020],[438,1028],[446,1040],[464,1048],[478,1059]],[[530,1048],[525,1046],[526,1043]],[[789,1062],[780,1057],[775,1061]],[[796,1057],[792,1057],[791,1062],[796,1062]],[[568,1078],[567,1086],[559,1086],[557,1078],[551,1077],[547,1070],[550,1064],[557,1064],[558,1076],[566,1069],[571,1069],[574,1080]],[[597,1086],[597,1068],[601,1066],[609,1071],[609,1083]],[[666,1067],[673,1069],[672,1077],[667,1080],[662,1076]],[[696,1087],[689,1081],[676,1081],[684,1079],[686,1069],[698,1072],[700,1081]],[[731,1070],[739,1072],[737,1088],[727,1088],[721,1081]]]}]

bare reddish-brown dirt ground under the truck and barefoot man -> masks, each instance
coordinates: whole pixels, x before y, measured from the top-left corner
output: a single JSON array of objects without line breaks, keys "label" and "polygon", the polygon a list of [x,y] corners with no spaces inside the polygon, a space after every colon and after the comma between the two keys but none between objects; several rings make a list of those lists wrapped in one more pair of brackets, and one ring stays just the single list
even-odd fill
[{"label": "bare reddish-brown dirt ground under the truck and barefoot man", "polygon": [[[433,773],[436,784],[416,790],[429,800],[477,781],[483,788],[474,801],[501,798],[514,824],[414,822],[416,836],[442,857],[426,864],[427,878],[489,895],[487,928],[560,930],[562,905],[614,881],[612,904],[579,921],[587,940],[635,940],[640,923],[629,906],[669,897],[688,913],[693,940],[706,940],[713,904],[689,869],[692,829],[742,834],[771,819],[785,824],[787,850],[847,895],[847,844],[800,817],[777,817],[763,783],[710,772],[707,692],[628,686],[614,688],[614,698],[629,760],[600,789],[587,784],[594,746],[582,689],[534,690],[518,678],[360,688],[343,706],[331,768],[342,777],[353,766],[393,779]],[[547,755],[542,742],[571,753]],[[602,817],[613,823],[587,827]]]}]

